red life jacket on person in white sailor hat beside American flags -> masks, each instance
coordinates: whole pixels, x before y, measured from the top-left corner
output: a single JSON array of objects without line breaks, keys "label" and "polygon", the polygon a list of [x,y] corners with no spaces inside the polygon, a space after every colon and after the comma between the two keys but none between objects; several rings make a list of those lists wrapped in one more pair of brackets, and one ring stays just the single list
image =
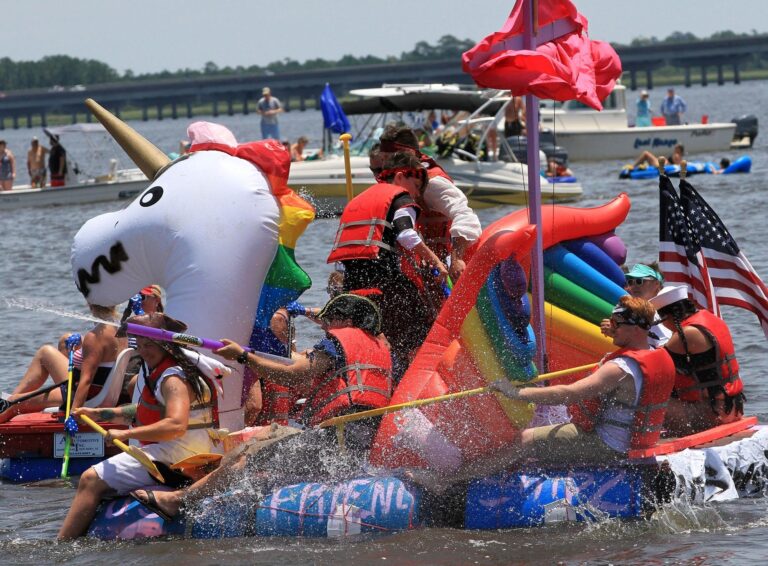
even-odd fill
[{"label": "red life jacket on person in white sailor hat beside American flags", "polygon": [[[704,399],[708,387],[722,387],[726,395],[735,397],[744,390],[739,377],[739,363],[733,347],[733,338],[728,325],[706,310],[692,314],[680,323],[680,326],[695,326],[709,338],[715,348],[715,361],[699,367],[676,367],[675,392],[681,401],[696,403]],[[696,374],[702,370],[717,370],[717,379],[701,382]]]}]

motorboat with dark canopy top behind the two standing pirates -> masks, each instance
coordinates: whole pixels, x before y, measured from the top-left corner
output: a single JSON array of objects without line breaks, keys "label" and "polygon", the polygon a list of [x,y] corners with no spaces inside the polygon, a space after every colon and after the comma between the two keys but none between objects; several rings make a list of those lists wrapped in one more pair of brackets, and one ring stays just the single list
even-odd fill
[{"label": "motorboat with dark canopy top behind the two standing pirates", "polygon": [[[462,89],[457,85],[385,85],[382,88],[352,91],[351,94],[363,98],[344,104],[347,114],[375,115],[375,118],[368,119],[361,131],[368,128],[375,130],[375,124],[383,125],[388,114],[392,113],[398,119],[411,122],[413,115],[409,113],[412,112],[421,117],[424,110],[463,110],[472,114],[460,123],[461,126],[477,126],[481,130],[482,139],[485,139],[488,128],[495,127],[497,120],[475,116],[502,111],[501,107],[507,100],[507,97],[494,99],[492,95]],[[367,150],[375,137],[378,136],[371,136],[367,144],[363,140],[358,154],[351,159],[355,194],[375,183],[368,168],[367,157]],[[503,140],[501,142],[505,143]],[[459,154],[462,158],[459,158]],[[507,155],[511,154],[511,150],[507,152]],[[524,205],[528,202],[528,167],[524,163],[482,161],[462,150],[455,150],[450,157],[436,158],[436,161],[469,197],[470,205],[474,208],[501,204]],[[340,156],[331,155],[323,160],[292,163],[288,182],[292,188],[312,200],[321,212],[338,212],[346,202],[344,160]],[[575,201],[582,194],[581,185],[577,182],[553,183],[542,176],[541,185],[545,201]]]}]

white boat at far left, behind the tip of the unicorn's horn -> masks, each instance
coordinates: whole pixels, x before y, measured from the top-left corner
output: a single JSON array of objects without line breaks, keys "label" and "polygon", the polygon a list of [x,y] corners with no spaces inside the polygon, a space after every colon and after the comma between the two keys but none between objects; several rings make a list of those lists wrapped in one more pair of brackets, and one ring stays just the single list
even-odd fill
[{"label": "white boat at far left, behind the tip of the unicorn's horn", "polygon": [[[33,188],[18,185],[0,192],[0,210],[32,206],[76,205],[131,199],[147,186],[146,176],[138,168],[120,169],[117,153],[110,153],[109,134],[101,124],[72,124],[47,128],[57,136],[80,134],[89,148],[87,161],[73,162],[67,152],[67,184],[63,187]],[[66,142],[64,142],[66,143]],[[91,173],[99,171],[98,174]]]}]

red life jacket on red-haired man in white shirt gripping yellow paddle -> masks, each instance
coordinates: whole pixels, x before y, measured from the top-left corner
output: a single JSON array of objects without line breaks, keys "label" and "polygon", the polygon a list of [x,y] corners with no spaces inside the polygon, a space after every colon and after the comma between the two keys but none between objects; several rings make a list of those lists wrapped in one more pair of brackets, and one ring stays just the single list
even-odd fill
[{"label": "red life jacket on red-haired man in white shirt gripping yellow paddle", "polygon": [[[600,365],[619,356],[632,358],[640,366],[643,374],[642,387],[638,404],[631,425],[630,448],[650,448],[659,440],[667,412],[667,402],[674,384],[675,364],[669,353],[658,350],[620,349],[605,356]],[[602,399],[595,398],[573,404],[568,407],[571,422],[585,431],[591,431],[595,425],[603,422]],[[625,423],[611,421],[611,424],[626,427]]]}]

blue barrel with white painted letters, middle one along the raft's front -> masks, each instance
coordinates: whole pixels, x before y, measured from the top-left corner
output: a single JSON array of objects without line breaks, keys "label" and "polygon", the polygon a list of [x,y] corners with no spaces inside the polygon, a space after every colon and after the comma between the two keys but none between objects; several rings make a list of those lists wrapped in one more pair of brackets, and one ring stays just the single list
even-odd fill
[{"label": "blue barrel with white painted letters, middle one along the raft's front", "polygon": [[336,485],[302,483],[275,490],[256,511],[260,536],[346,536],[418,525],[419,494],[393,477]]}]

